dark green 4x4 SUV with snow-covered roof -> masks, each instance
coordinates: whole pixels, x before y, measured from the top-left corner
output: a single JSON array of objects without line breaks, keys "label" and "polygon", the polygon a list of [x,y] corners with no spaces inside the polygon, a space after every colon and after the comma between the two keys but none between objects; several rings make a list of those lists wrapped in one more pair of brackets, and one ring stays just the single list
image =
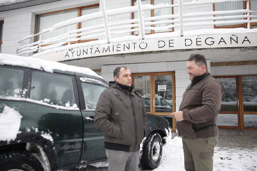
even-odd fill
[{"label": "dark green 4x4 SUV with snow-covered roof", "polygon": [[[47,171],[106,160],[94,111],[108,83],[89,68],[0,54],[0,170]],[[168,121],[148,114],[141,164],[156,168]]]}]

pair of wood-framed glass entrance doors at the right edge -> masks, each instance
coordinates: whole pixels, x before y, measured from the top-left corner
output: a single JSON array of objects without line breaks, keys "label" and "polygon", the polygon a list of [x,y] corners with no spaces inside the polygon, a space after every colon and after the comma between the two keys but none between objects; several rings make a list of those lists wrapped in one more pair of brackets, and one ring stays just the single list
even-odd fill
[{"label": "pair of wood-framed glass entrance doors at the right edge", "polygon": [[219,128],[257,130],[257,76],[216,76],[223,88]]}]

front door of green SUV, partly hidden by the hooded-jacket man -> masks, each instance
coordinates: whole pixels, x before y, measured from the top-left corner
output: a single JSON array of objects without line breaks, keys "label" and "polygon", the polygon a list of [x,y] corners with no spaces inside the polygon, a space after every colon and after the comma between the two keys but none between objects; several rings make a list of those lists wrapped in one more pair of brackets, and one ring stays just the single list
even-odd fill
[{"label": "front door of green SUV, partly hidden by the hooded-jacket man", "polygon": [[93,161],[106,158],[104,133],[94,126],[95,107],[101,92],[108,85],[100,80],[77,76],[81,113],[83,116],[83,152],[81,161]]}]

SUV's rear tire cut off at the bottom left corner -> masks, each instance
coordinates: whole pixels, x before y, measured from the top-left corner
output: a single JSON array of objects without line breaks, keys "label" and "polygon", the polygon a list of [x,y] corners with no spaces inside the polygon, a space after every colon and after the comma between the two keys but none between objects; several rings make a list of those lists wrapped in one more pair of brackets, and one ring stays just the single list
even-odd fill
[{"label": "SUV's rear tire cut off at the bottom left corner", "polygon": [[0,154],[1,171],[44,171],[40,162],[29,152]]}]

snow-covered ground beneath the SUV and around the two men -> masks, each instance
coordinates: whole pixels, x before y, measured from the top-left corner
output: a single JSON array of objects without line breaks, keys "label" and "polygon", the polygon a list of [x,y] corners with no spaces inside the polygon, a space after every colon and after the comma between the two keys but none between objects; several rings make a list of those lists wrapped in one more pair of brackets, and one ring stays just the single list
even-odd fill
[{"label": "snow-covered ground beneath the SUV and around the two men", "polygon": [[[185,171],[182,139],[174,137],[163,147],[160,165],[153,171]],[[257,171],[257,148],[215,147],[213,171]],[[92,166],[93,165],[93,166]],[[92,164],[80,171],[107,171],[107,162]],[[96,166],[96,167],[95,167]],[[139,168],[139,171],[148,171]],[[150,170],[149,170],[150,171]]]}]

